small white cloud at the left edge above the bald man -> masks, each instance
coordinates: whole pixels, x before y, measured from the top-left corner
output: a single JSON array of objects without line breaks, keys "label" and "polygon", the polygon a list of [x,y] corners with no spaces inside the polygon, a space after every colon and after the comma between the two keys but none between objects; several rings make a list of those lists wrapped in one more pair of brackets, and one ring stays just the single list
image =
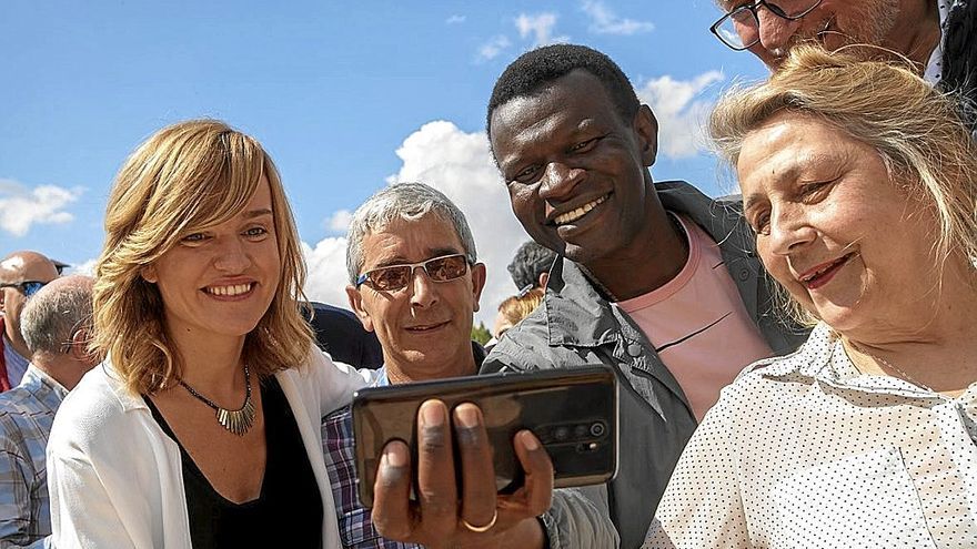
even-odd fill
[{"label": "small white cloud at the left edge above the bald man", "polygon": [[26,235],[34,224],[63,224],[74,218],[63,209],[81,195],[81,189],[23,184],[0,179],[0,228],[14,236]]}]

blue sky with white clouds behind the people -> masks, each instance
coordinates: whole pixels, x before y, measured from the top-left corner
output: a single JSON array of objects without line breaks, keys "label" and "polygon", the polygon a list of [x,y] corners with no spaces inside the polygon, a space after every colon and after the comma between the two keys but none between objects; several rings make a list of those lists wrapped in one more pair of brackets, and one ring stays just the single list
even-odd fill
[{"label": "blue sky with white clouds behind the people", "polygon": [[[656,180],[731,182],[697,119],[765,74],[709,34],[708,0],[0,3],[0,254],[87,264],[120,164],[159,128],[213,116],[271,152],[296,214],[313,298],[343,304],[343,221],[390,181],[429,182],[470,217],[488,288],[514,292],[525,238],[484,141],[495,78],[554,41],[611,55],[662,123]],[[488,313],[486,313],[488,312]]]}]

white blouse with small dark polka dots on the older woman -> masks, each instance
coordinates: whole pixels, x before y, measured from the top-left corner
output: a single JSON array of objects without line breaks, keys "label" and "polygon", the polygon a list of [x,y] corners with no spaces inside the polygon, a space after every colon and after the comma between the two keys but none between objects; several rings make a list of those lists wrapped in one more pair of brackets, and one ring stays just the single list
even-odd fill
[{"label": "white blouse with small dark polka dots on the older woman", "polygon": [[977,384],[863,375],[818,326],[723,389],[644,547],[977,547],[975,418]]}]

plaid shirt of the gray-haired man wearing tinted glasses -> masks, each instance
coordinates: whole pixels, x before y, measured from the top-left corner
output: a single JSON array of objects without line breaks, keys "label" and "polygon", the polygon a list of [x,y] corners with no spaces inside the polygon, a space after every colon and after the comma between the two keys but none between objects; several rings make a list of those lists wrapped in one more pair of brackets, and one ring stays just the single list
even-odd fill
[{"label": "plaid shirt of the gray-haired man wearing tinted glasses", "polygon": [[[381,368],[374,386],[390,385]],[[322,454],[332,485],[339,518],[340,538],[346,549],[416,549],[415,543],[391,541],[373,528],[370,509],[360,505],[356,495],[356,459],[353,446],[353,411],[346,406],[322,420]]]}]

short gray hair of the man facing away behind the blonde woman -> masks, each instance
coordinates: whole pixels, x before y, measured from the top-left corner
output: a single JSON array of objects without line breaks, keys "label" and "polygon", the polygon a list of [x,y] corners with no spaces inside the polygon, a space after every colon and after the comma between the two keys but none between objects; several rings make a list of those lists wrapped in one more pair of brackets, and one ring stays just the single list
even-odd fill
[{"label": "short gray hair of the man facing away behind the blonde woman", "polygon": [[20,333],[31,355],[66,354],[66,344],[71,343],[77,329],[91,332],[91,283],[70,283],[67,278],[56,282],[41,288],[23,307]]}]

